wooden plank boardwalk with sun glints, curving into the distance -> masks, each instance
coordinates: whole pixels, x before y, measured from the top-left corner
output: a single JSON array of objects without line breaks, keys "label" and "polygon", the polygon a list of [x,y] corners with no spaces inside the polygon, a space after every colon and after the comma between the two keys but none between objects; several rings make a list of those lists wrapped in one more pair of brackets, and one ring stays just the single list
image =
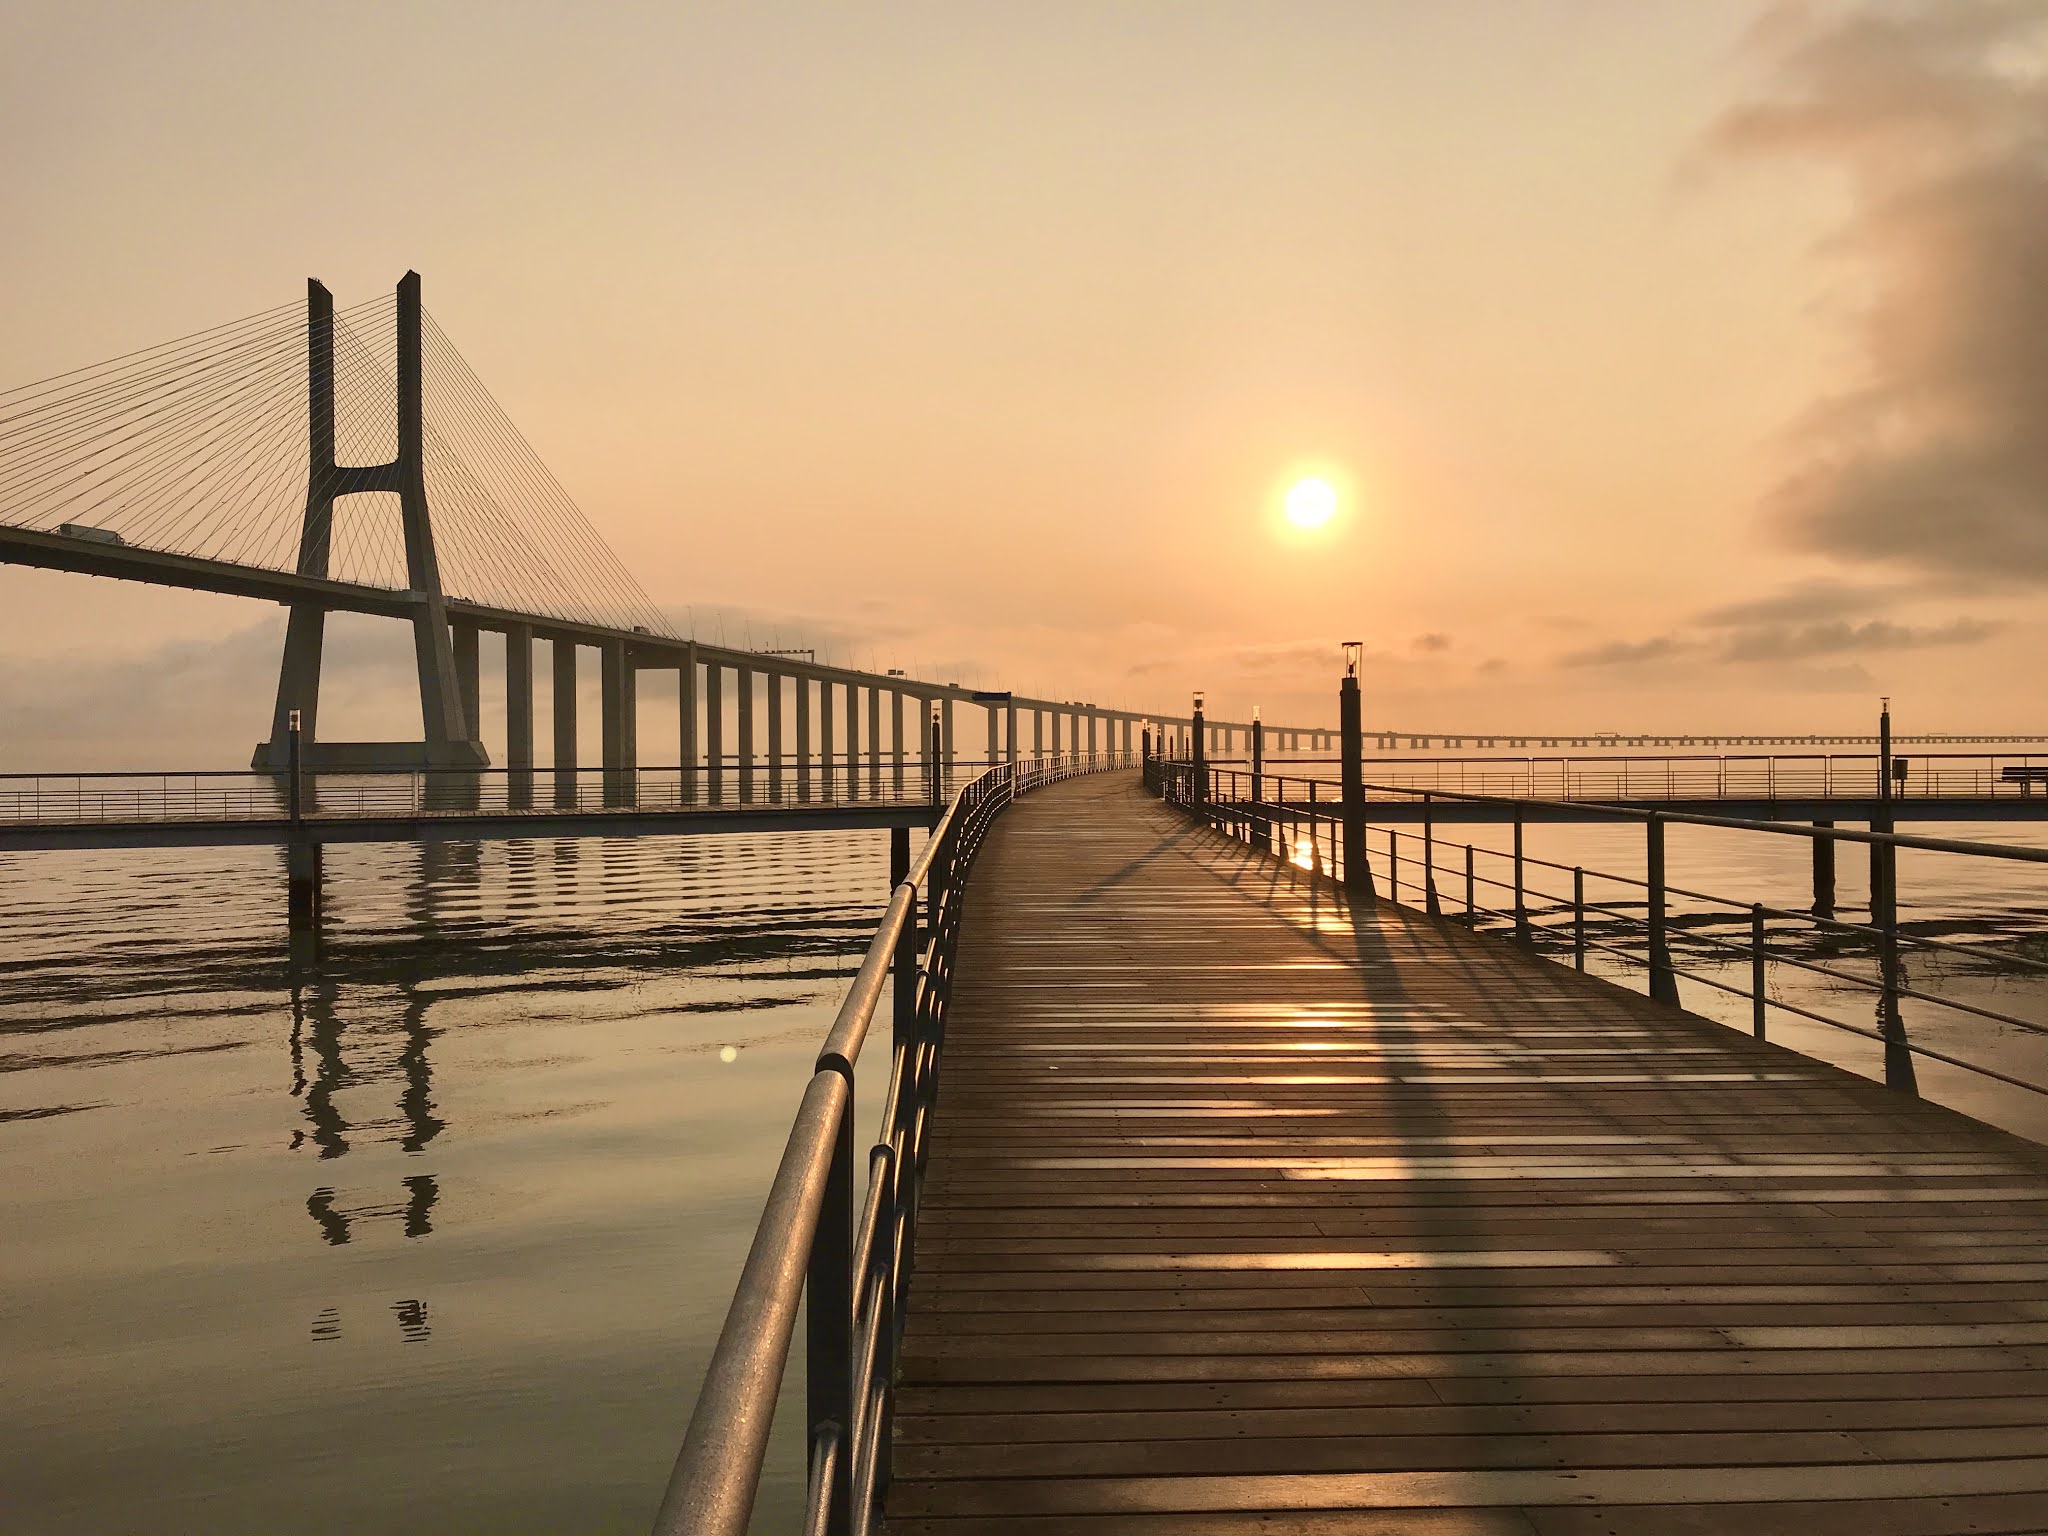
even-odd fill
[{"label": "wooden plank boardwalk with sun glints, curving into the distance", "polygon": [[2048,1153],[1079,778],[973,874],[895,1536],[2048,1530]]}]

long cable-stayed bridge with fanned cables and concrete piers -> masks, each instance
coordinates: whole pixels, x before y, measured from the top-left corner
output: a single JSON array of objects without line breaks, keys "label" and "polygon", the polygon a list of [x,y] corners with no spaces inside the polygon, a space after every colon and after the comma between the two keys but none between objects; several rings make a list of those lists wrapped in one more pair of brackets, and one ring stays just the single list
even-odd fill
[{"label": "long cable-stayed bridge with fanned cables and concrete piers", "polygon": [[[582,766],[575,676],[580,653],[594,649],[600,766],[621,774],[639,764],[635,678],[672,670],[680,737],[653,758],[674,760],[682,788],[713,803],[727,768],[733,795],[752,803],[766,799],[768,778],[782,786],[784,764],[795,791],[811,768],[829,778],[840,754],[856,770],[862,745],[872,758],[885,735],[893,760],[909,752],[924,764],[934,707],[948,764],[961,758],[958,705],[979,707],[985,758],[1006,762],[1133,752],[1143,723],[1192,723],[678,633],[426,311],[414,272],[393,295],[346,309],[309,283],[303,309],[266,309],[0,393],[0,559],[285,604],[285,655],[254,768],[285,766],[293,713],[309,772],[483,768],[483,631],[506,647],[504,768],[535,768],[535,643],[551,649],[549,768]],[[418,741],[319,733],[322,641],[336,610],[412,625]],[[915,721],[907,700],[918,700]],[[1243,729],[1214,725],[1223,741]],[[1290,735],[1329,743],[1325,731]]]}]

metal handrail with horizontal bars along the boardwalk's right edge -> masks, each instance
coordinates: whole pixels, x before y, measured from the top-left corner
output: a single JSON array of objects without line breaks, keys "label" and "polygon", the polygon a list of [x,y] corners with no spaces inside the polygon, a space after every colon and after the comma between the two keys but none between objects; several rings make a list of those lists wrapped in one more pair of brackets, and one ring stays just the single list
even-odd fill
[{"label": "metal handrail with horizontal bars along the boardwalk's right edge", "polygon": [[[1223,782],[1219,782],[1219,780],[1223,780]],[[1249,780],[1249,782],[1241,782],[1241,780]],[[1343,877],[1341,858],[1339,858],[1339,852],[1337,852],[1339,840],[1335,836],[1331,836],[1331,840],[1329,840],[1329,844],[1331,844],[1331,848],[1329,848],[1329,864],[1323,862],[1323,852],[1321,852],[1321,846],[1323,846],[1321,844],[1321,827],[1323,827],[1323,823],[1329,823],[1331,831],[1335,831],[1335,827],[1343,821],[1343,811],[1346,811],[1346,807],[1341,803],[1335,803],[1335,801],[1317,803],[1317,799],[1315,799],[1317,784],[1327,782],[1327,780],[1307,780],[1307,784],[1309,784],[1309,799],[1307,801],[1298,801],[1298,799],[1288,799],[1286,778],[1282,778],[1280,774],[1276,774],[1272,770],[1266,770],[1260,778],[1255,778],[1255,776],[1249,776],[1249,774],[1241,774],[1241,772],[1237,772],[1233,768],[1219,768],[1217,764],[1192,764],[1192,762],[1165,762],[1165,760],[1157,760],[1157,762],[1149,762],[1147,764],[1147,768],[1145,768],[1145,782],[1161,799],[1180,805],[1184,811],[1206,819],[1208,823],[1221,827],[1223,831],[1229,831],[1231,836],[1241,838],[1243,842],[1249,842],[1253,846],[1264,846],[1268,852],[1272,850],[1274,836],[1280,831],[1280,827],[1294,825],[1294,823],[1300,823],[1303,819],[1307,819],[1309,821],[1309,842],[1311,842],[1311,848],[1313,848],[1311,868],[1317,874],[1325,872],[1325,868],[1327,868],[1333,879],[1341,879]],[[1296,782],[1300,782],[1300,780],[1296,780]],[[1272,799],[1268,799],[1266,795],[1255,795],[1255,797],[1247,799],[1247,795],[1251,791],[1251,784],[1257,784],[1262,791],[1270,784],[1270,786],[1274,786],[1276,793],[1274,793]],[[1219,793],[1219,791],[1225,791],[1225,788],[1229,793]],[[1960,840],[1954,840],[1954,838],[1919,838],[1919,836],[1896,834],[1896,831],[1853,831],[1853,829],[1847,829],[1847,827],[1812,827],[1812,825],[1802,825],[1802,823],[1759,821],[1759,819],[1747,819],[1747,817],[1720,817],[1720,815],[1702,815],[1702,813],[1686,813],[1686,811],[1649,811],[1649,809],[1640,809],[1640,807],[1622,807],[1622,805],[1597,807],[1597,811],[1602,815],[1610,815],[1614,819],[1638,821],[1638,823],[1642,823],[1647,827],[1647,834],[1649,834],[1649,877],[1647,879],[1636,879],[1636,877],[1630,877],[1630,874],[1606,874],[1606,872],[1599,872],[1599,870],[1585,870],[1583,866],[1565,866],[1565,864],[1559,864],[1559,862],[1552,862],[1552,860],[1530,858],[1528,854],[1524,854],[1524,850],[1522,850],[1524,815],[1522,813],[1524,811],[1540,811],[1540,809],[1554,807],[1554,801],[1542,801],[1542,799],[1532,799],[1532,797],[1473,795],[1473,793],[1456,793],[1456,791],[1415,791],[1415,788],[1393,786],[1393,784],[1368,784],[1366,788],[1370,788],[1370,791],[1374,791],[1378,795],[1393,793],[1393,795],[1419,797],[1423,801],[1423,807],[1425,807],[1423,829],[1419,834],[1417,831],[1405,831],[1401,827],[1386,827],[1386,852],[1389,852],[1389,866],[1391,866],[1389,868],[1386,889],[1389,889],[1389,895],[1395,901],[1401,899],[1403,885],[1407,885],[1409,889],[1419,889],[1423,893],[1423,909],[1430,915],[1440,915],[1442,897],[1440,897],[1438,887],[1436,887],[1436,877],[1442,874],[1442,872],[1456,874],[1454,868],[1446,870],[1446,866],[1440,864],[1438,858],[1436,858],[1436,846],[1442,842],[1448,848],[1454,848],[1454,850],[1462,848],[1464,850],[1464,903],[1462,903],[1462,907],[1464,907],[1464,920],[1473,928],[1477,928],[1481,915],[1485,915],[1485,918],[1499,918],[1505,924],[1511,924],[1511,936],[1513,936],[1516,942],[1520,942],[1524,946],[1534,946],[1534,934],[1536,934],[1536,930],[1556,932],[1550,924],[1538,924],[1536,922],[1538,911],[1552,911],[1552,913],[1567,913],[1569,911],[1569,915],[1571,915],[1573,965],[1577,969],[1581,969],[1581,971],[1585,969],[1585,954],[1591,948],[1591,950],[1612,952],[1612,954],[1624,958],[1630,965],[1640,965],[1649,973],[1649,991],[1651,991],[1651,995],[1653,997],[1661,997],[1665,1001],[1673,1001],[1673,1004],[1677,1001],[1677,979],[1679,977],[1690,979],[1690,981],[1698,981],[1698,983],[1708,985],[1708,987],[1714,987],[1716,991],[1726,991],[1726,993],[1733,993],[1733,995],[1739,995],[1739,997],[1749,997],[1751,999],[1751,1030],[1753,1030],[1753,1034],[1757,1038],[1765,1038],[1767,1036],[1767,1014],[1769,1014],[1769,1010],[1776,1008],[1776,1010],[1782,1010],[1782,1012],[1796,1014],[1800,1018],[1808,1018],[1808,1020],[1815,1020],[1815,1022],[1821,1022],[1821,1024],[1829,1024],[1829,1026],[1845,1030],[1849,1034],[1858,1034],[1858,1036],[1864,1036],[1864,1038],[1878,1040],[1880,1044],[1884,1044],[1884,1055],[1886,1055],[1886,1073],[1884,1073],[1886,1083],[1890,1083],[1894,1087],[1903,1087],[1907,1092],[1917,1092],[1917,1081],[1915,1081],[1913,1067],[1911,1067],[1913,1059],[1915,1057],[1925,1057],[1929,1061],[1939,1061],[1939,1063],[1946,1063],[1946,1065],[1952,1065],[1952,1067],[1960,1067],[1964,1071],[1970,1071],[1970,1073],[1976,1073],[1976,1075],[1982,1075],[1982,1077],[1991,1077],[1991,1079],[1997,1079],[2001,1083],[2009,1083],[2013,1087],[2023,1087],[2023,1090],[2030,1090],[2034,1094],[2048,1096],[2048,1083],[2040,1083],[2040,1081],[2030,1081],[2030,1079],[2023,1079],[2023,1077],[2015,1077],[2015,1075],[1999,1071],[1995,1067],[1987,1067],[1982,1063],[1966,1061],[1966,1059],[1948,1055],[1944,1051],[1935,1051],[1931,1047],[1925,1047],[1925,1044],[1919,1044],[1919,1042],[1907,1038],[1905,1022],[1903,1022],[1901,1012],[1898,1012],[1901,999],[1933,1004],[1937,1008],[1948,1008],[1948,1010],[1954,1010],[1954,1012],[1960,1012],[1960,1014],[1968,1014],[1968,1016],[1974,1016],[1974,1018],[1982,1018],[1982,1020],[1991,1020],[1991,1022],[2015,1026],[2015,1028],[2028,1030],[2032,1034],[2048,1034],[2048,1026],[2044,1026],[2044,1024],[2040,1024],[2036,1020],[2023,1020],[2023,1018],[2017,1018],[2013,1014],[2005,1014],[2005,1012],[1999,1012],[1999,1010],[1993,1010],[1993,1008],[1982,1008],[1978,1004],[1970,1004],[1970,1001],[1956,999],[1956,997],[1939,997],[1935,993],[1927,993],[1927,991],[1921,991],[1921,989],[1905,985],[1903,969],[1901,969],[1901,963],[1903,963],[1901,946],[1921,946],[1921,948],[1933,948],[1933,950],[1944,950],[1944,952],[1970,954],[1970,956],[1978,956],[1978,958],[1985,958],[1987,950],[1980,948],[1980,946],[1956,944],[1956,942],[1939,940],[1939,938],[1933,938],[1933,936],[1913,934],[1911,930],[1905,930],[1898,924],[1898,905],[1896,905],[1896,850],[1901,850],[1901,848],[1915,848],[1915,850],[1942,852],[1942,854],[1964,854],[1964,856],[1974,856],[1974,858],[2001,858],[2001,860],[2028,862],[2028,864],[2048,864],[2048,850],[2042,850],[2042,848],[2019,848],[2019,846],[2013,846],[2013,844],[1960,842]],[[1427,807],[1434,801],[1438,801],[1438,799],[1477,801],[1477,803],[1487,803],[1487,805],[1509,807],[1513,811],[1513,852],[1501,852],[1497,848],[1481,848],[1477,844],[1456,844],[1456,842],[1448,842],[1448,840],[1438,838],[1436,836],[1436,827],[1434,827],[1434,823],[1432,823],[1432,819],[1427,815]],[[1356,807],[1356,811],[1362,817],[1368,811],[1368,803],[1360,801],[1358,807]],[[1704,893],[1704,891],[1690,891],[1686,887],[1671,885],[1669,881],[1665,881],[1665,874],[1663,874],[1663,829],[1665,829],[1665,825],[1671,825],[1671,823],[1720,827],[1720,829],[1733,829],[1733,831],[1761,831],[1761,834],[1772,834],[1772,836],[1792,836],[1792,838],[1806,838],[1810,842],[1827,842],[1829,846],[1833,846],[1835,842],[1868,844],[1872,848],[1872,868],[1874,868],[1872,922],[1870,924],[1843,924],[1843,922],[1835,922],[1825,911],[1798,913],[1798,911],[1788,911],[1788,909],[1782,909],[1782,907],[1765,907],[1761,903],[1735,901],[1731,897],[1710,895],[1710,893]],[[1403,838],[1407,838],[1411,844],[1415,840],[1421,842],[1421,856],[1419,858],[1409,856],[1407,862],[1409,864],[1419,864],[1421,870],[1423,870],[1423,874],[1413,877],[1409,881],[1403,881],[1403,868],[1401,868],[1403,866],[1403,858],[1401,858],[1401,840]],[[1475,858],[1479,854],[1485,854],[1489,858],[1511,860],[1511,864],[1513,864],[1513,879],[1511,881],[1501,881],[1501,879],[1479,874],[1475,870]],[[1569,872],[1573,877],[1573,895],[1571,895],[1571,899],[1567,901],[1561,895],[1536,891],[1534,887],[1530,887],[1530,883],[1526,879],[1526,868],[1532,866],[1532,864],[1538,866],[1538,868],[1552,868],[1552,870]],[[1638,918],[1636,913],[1622,911],[1618,905],[1612,905],[1612,903],[1587,901],[1585,899],[1585,877],[1589,872],[1597,881],[1608,881],[1608,883],[1614,883],[1614,885],[1626,885],[1626,887],[1640,889],[1645,893],[1645,901],[1642,901],[1645,915]],[[1499,909],[1493,909],[1493,907],[1479,905],[1479,901],[1477,901],[1477,887],[1479,885],[1497,887],[1501,891],[1511,893],[1513,907],[1509,911],[1499,911]],[[1739,944],[1735,940],[1729,940],[1729,938],[1722,938],[1722,936],[1716,936],[1716,934],[1690,932],[1683,924],[1669,922],[1669,913],[1667,913],[1665,907],[1667,907],[1667,897],[1671,897],[1671,895],[1683,895],[1683,897],[1692,897],[1692,899],[1698,899],[1698,901],[1708,901],[1708,903],[1714,903],[1714,905],[1722,905],[1722,907],[1731,907],[1735,911],[1747,913],[1749,915],[1749,944],[1745,946],[1745,944]],[[1548,903],[1548,905],[1540,905],[1540,907],[1532,909],[1532,899],[1538,901],[1538,903]],[[1640,928],[1645,932],[1645,936],[1647,936],[1645,954],[1638,956],[1632,950],[1626,950],[1626,948],[1622,948],[1618,944],[1610,944],[1610,942],[1602,942],[1597,938],[1589,938],[1587,932],[1585,932],[1585,915],[1589,911],[1599,911],[1599,913],[1606,913],[1606,915],[1610,915],[1610,918],[1614,918],[1614,920],[1618,920],[1622,924]],[[1855,936],[1855,938],[1870,940],[1872,946],[1876,948],[1876,954],[1878,954],[1878,977],[1876,979],[1872,979],[1872,977],[1860,977],[1860,975],[1853,975],[1849,971],[1839,971],[1835,967],[1819,965],[1815,961],[1806,961],[1806,958],[1796,956],[1796,954],[1786,954],[1782,950],[1774,952],[1769,948],[1769,942],[1767,942],[1769,940],[1769,930],[1767,930],[1767,922],[1765,922],[1767,918],[1804,920],[1804,922],[1812,922],[1815,928],[1827,930],[1831,934],[1845,934],[1845,936]],[[1708,918],[1708,920],[1710,922],[1726,922],[1724,918]],[[1718,977],[1706,977],[1706,975],[1700,975],[1698,971],[1688,971],[1688,969],[1681,969],[1679,965],[1675,965],[1673,963],[1673,954],[1671,954],[1671,950],[1673,950],[1673,930],[1677,930],[1677,940],[1683,942],[1683,944],[1692,944],[1692,946],[1700,946],[1700,948],[1708,948],[1708,950],[1733,952],[1733,954],[1745,954],[1747,952],[1749,963],[1751,963],[1751,985],[1747,989],[1743,989],[1743,987],[1733,985],[1729,981],[1722,981]],[[2030,961],[2025,956],[2013,956],[2013,958],[2019,961],[2025,969],[2048,969],[2048,967],[2042,967],[2040,963]],[[1858,1024],[1847,1024],[1843,1020],[1829,1018],[1825,1014],[1815,1014],[1812,1010],[1798,1008],[1796,1004],[1772,997],[1769,989],[1767,989],[1767,967],[1769,965],[1790,965],[1790,967],[1794,967],[1798,971],[1812,971],[1812,973],[1829,977],[1831,981],[1847,983],[1847,985],[1853,985],[1853,987],[1862,987],[1862,989],[1866,989],[1870,993],[1876,993],[1876,997],[1878,997],[1880,1028],[1876,1028],[1876,1030],[1862,1028]]]}]

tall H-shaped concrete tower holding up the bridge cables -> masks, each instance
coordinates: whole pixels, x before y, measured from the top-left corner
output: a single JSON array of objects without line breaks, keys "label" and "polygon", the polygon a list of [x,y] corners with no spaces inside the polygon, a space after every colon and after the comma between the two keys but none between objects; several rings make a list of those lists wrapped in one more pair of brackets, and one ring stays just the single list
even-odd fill
[{"label": "tall H-shaped concrete tower holding up the bridge cables", "polygon": [[406,535],[406,596],[412,602],[412,647],[420,674],[420,741],[322,741],[319,653],[328,610],[317,598],[291,604],[285,659],[276,678],[270,739],[256,743],[252,768],[283,768],[291,713],[299,711],[307,770],[336,768],[483,768],[489,756],[477,723],[463,709],[449,606],[434,559],[434,524],[426,506],[426,399],[420,350],[420,274],[397,285],[397,457],[387,465],[334,463],[334,295],[317,279],[305,285],[305,522],[299,530],[299,575],[328,575],[334,504],[342,496],[387,492],[399,498]]}]

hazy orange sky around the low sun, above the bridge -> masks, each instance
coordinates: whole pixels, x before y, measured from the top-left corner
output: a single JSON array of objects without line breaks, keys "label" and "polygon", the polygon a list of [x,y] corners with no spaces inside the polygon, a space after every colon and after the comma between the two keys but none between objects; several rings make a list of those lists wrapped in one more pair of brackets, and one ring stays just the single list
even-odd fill
[{"label": "hazy orange sky around the low sun, above the bridge", "polygon": [[[1872,209],[2038,109],[2025,10],[16,0],[0,385],[416,266],[705,637],[1305,721],[1362,637],[1372,723],[2028,729],[2038,578],[1911,522],[2032,537],[2023,451],[1878,455],[1982,485],[1886,510],[1868,432],[1815,436],[1929,377],[1995,436],[2019,389],[1958,383],[1942,285],[2040,231]],[[1874,156],[1921,63],[1989,127]],[[1303,465],[1346,485],[1313,537]],[[6,766],[246,762],[276,633],[0,569]],[[332,682],[373,735],[385,645]]]}]

